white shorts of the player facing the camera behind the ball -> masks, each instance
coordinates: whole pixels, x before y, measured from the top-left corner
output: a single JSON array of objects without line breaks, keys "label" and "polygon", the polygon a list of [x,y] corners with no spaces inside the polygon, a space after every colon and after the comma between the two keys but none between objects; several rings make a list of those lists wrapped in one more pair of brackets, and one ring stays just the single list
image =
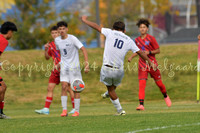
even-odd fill
[{"label": "white shorts of the player facing the camera behind the ball", "polygon": [[71,83],[75,79],[82,80],[80,68],[62,68],[60,70],[60,82]]}]

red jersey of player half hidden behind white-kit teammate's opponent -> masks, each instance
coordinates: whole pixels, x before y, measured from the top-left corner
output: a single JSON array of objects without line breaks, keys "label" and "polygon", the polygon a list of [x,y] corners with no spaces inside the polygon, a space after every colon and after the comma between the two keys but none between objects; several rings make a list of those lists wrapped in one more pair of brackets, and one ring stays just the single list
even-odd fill
[{"label": "red jersey of player half hidden behind white-kit teammate's opponent", "polygon": [[[48,50],[49,56],[53,58],[54,65],[57,65],[60,62],[60,51],[56,50],[56,45],[54,42],[49,43],[49,50]],[[56,69],[53,71],[55,74],[59,74]]]}]

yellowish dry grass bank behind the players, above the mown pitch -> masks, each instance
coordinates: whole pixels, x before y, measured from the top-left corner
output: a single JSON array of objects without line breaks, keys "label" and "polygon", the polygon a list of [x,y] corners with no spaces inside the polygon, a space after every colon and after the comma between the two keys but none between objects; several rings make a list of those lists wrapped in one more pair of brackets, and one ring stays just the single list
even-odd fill
[{"label": "yellowish dry grass bank behind the players, above the mown pitch", "polygon": [[[197,49],[198,46],[194,44],[161,46],[161,54],[156,57],[162,68],[163,83],[166,85],[168,94],[172,99],[195,100]],[[88,49],[88,55],[91,71],[88,74],[82,73],[86,84],[86,89],[82,93],[82,102],[85,104],[102,103],[99,96],[106,90],[105,85],[99,82],[103,49]],[[138,58],[133,59],[128,64],[127,59],[130,55],[131,52],[125,57],[125,76],[121,85],[117,88],[117,93],[122,102],[132,102],[138,99]],[[31,104],[34,102],[38,104],[44,100],[48,76],[51,72],[48,65],[51,65],[52,60],[46,61],[43,51],[5,52],[0,60],[9,61],[8,65],[3,65],[6,70],[9,70],[0,71],[0,76],[4,78],[8,86],[6,101],[9,104],[12,104],[13,101],[15,103]],[[82,53],[80,53],[80,61],[83,62]],[[27,70],[26,67],[23,71],[19,71],[20,64],[23,66],[28,65],[29,69]],[[188,67],[187,70],[183,70],[184,66]],[[189,66],[193,68],[189,68]],[[34,69],[30,70],[31,67]],[[54,102],[56,103],[60,103],[60,88],[58,86],[55,89]],[[149,76],[146,87],[146,100],[159,100],[161,98],[162,95],[158,87]]]}]

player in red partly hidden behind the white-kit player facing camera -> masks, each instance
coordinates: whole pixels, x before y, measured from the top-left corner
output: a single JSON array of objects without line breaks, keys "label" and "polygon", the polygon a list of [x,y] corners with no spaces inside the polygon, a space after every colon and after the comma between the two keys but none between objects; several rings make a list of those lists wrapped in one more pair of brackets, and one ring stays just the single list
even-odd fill
[{"label": "player in red partly hidden behind the white-kit player facing camera", "polygon": [[[51,37],[53,38],[53,40],[55,40],[55,38],[59,36],[57,29],[58,29],[57,26],[53,26],[50,29]],[[60,71],[55,68],[55,66],[60,62],[60,52],[56,50],[56,45],[54,41],[45,44],[45,58],[46,60],[49,60],[51,57],[53,59],[54,67],[53,67],[53,71],[51,72],[51,76],[49,77],[49,84],[47,88],[45,106],[43,109],[35,110],[35,112],[38,114],[49,114],[49,108],[53,100],[53,90],[56,87],[56,85],[59,85],[60,83]],[[73,109],[69,113],[73,114],[75,112],[74,93],[70,88],[68,92],[70,94],[72,107],[73,107]]]}]

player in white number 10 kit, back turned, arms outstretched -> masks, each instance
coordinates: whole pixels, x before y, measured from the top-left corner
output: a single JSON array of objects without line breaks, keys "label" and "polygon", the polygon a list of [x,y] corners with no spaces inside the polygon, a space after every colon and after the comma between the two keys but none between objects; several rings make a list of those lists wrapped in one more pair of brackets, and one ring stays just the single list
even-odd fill
[{"label": "player in white number 10 kit, back turned, arms outstretched", "polygon": [[124,76],[124,58],[126,53],[131,50],[133,53],[137,53],[141,58],[148,61],[154,69],[156,66],[149,60],[146,54],[140,51],[134,41],[124,34],[125,24],[123,22],[115,22],[111,30],[101,28],[96,23],[87,20],[87,16],[82,16],[82,21],[106,37],[100,81],[108,89],[110,100],[117,109],[116,115],[125,115],[126,112],[122,109],[115,90]]}]

